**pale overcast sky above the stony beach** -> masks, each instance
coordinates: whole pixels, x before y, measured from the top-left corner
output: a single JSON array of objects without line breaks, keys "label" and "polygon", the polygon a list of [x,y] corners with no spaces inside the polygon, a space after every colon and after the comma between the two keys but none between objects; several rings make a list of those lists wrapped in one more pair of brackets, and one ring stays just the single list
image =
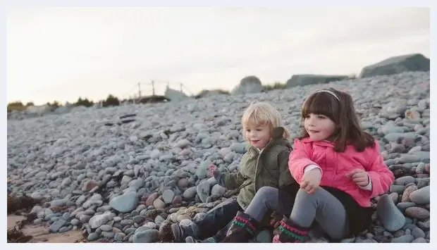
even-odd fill
[{"label": "pale overcast sky above the stony beach", "polygon": [[[8,102],[190,92],[293,74],[359,74],[430,54],[429,8],[49,8],[8,14]],[[149,85],[142,85],[151,94]]]}]

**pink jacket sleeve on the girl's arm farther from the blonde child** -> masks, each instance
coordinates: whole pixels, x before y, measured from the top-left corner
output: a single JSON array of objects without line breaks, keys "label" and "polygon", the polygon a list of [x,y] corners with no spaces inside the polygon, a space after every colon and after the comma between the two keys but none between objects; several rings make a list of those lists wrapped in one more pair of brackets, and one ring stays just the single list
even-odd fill
[{"label": "pink jacket sleeve on the girl's arm farther from the blonde child", "polygon": [[374,160],[367,165],[366,170],[371,181],[371,197],[374,197],[387,192],[393,180],[395,180],[395,175],[393,175],[391,170],[389,170],[387,165],[383,162],[377,141],[375,141],[375,147],[371,149],[371,152],[372,155],[370,157]]}]

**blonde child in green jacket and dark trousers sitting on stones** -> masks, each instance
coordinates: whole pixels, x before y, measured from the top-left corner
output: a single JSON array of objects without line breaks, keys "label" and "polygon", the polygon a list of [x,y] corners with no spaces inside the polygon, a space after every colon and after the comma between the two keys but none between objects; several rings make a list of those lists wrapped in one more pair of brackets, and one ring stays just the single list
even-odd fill
[{"label": "blonde child in green jacket and dark trousers sitting on stones", "polygon": [[189,243],[219,242],[225,237],[223,232],[226,233],[228,223],[236,213],[247,208],[261,187],[288,187],[290,193],[293,193],[291,187],[296,187],[294,192],[297,192],[297,183],[288,170],[290,134],[276,108],[266,102],[254,102],[243,113],[241,124],[250,146],[241,158],[238,173],[220,173],[214,165],[209,169],[219,185],[239,190],[236,201],[217,208],[189,227],[173,224],[175,242],[182,239]]}]

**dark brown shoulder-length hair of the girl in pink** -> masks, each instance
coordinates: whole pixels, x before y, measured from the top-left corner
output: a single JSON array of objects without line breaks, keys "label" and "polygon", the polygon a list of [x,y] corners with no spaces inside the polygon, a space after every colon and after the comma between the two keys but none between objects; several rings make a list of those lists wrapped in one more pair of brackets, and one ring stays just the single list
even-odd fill
[{"label": "dark brown shoulder-length hair of the girl in pink", "polygon": [[[364,132],[359,125],[355,113],[352,96],[336,89],[325,89],[336,94],[338,99],[327,92],[315,92],[311,94],[302,106],[302,123],[310,113],[326,115],[336,123],[337,130],[333,134],[334,149],[343,152],[347,144],[353,144],[358,152],[364,151],[367,146],[374,148],[375,141],[369,133]],[[300,139],[309,137],[308,132],[302,126]]]}]

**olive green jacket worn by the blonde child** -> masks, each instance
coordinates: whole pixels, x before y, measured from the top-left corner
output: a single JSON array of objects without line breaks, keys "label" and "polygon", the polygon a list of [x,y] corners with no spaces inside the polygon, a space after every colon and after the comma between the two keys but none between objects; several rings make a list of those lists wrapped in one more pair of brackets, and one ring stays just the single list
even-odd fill
[{"label": "olive green jacket worn by the blonde child", "polygon": [[223,173],[218,183],[227,189],[239,189],[238,204],[246,209],[255,193],[261,187],[281,188],[293,184],[295,180],[288,170],[288,156],[292,146],[283,138],[283,127],[273,129],[269,144],[259,152],[250,146],[240,161],[238,173]]}]

